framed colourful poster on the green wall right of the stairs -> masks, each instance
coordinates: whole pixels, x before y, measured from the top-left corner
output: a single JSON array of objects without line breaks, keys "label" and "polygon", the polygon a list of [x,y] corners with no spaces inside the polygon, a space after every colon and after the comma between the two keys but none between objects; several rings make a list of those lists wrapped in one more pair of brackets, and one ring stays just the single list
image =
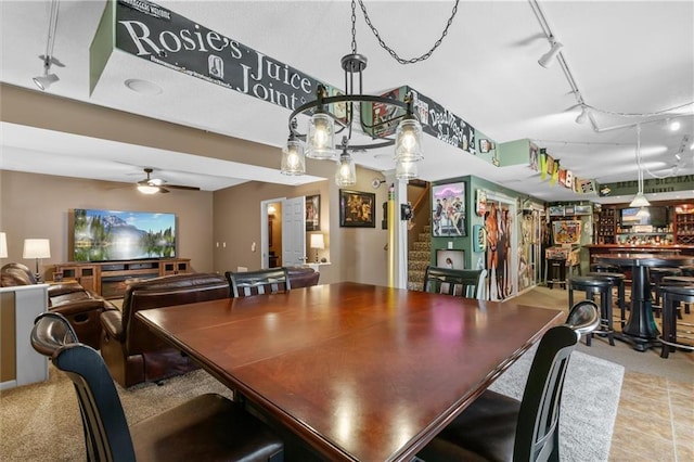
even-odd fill
[{"label": "framed colourful poster on the green wall right of the stairs", "polygon": [[464,182],[432,188],[432,210],[433,235],[447,238],[467,235]]}]

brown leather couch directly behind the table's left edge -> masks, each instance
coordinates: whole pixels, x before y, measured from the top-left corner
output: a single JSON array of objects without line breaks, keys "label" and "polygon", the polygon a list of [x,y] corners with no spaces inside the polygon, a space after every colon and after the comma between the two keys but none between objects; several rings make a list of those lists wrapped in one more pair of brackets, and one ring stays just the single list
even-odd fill
[{"label": "brown leather couch directly behind the table's left edge", "polygon": [[136,312],[150,308],[228,298],[223,274],[188,273],[128,283],[120,311],[101,315],[101,356],[124,387],[183,374],[197,365],[153,334]]}]

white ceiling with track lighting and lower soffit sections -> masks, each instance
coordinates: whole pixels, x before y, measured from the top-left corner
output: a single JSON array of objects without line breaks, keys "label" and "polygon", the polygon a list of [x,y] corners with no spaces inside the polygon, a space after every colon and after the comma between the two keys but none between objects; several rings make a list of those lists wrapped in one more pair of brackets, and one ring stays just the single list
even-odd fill
[{"label": "white ceiling with track lighting and lower soffit sections", "polygon": [[[158,1],[159,5],[235,39],[317,79],[343,87],[339,59],[350,51],[349,1]],[[426,52],[446,25],[453,1],[365,1],[373,24],[403,56]],[[694,2],[540,1],[548,23],[564,44],[563,56],[586,102],[613,113],[650,114],[667,108],[680,116],[672,132],[665,121],[642,125],[645,167],[656,176],[694,175]],[[1,80],[35,89],[41,73],[49,1],[2,1]],[[89,93],[89,46],[104,0],[60,2],[53,67],[60,81],[50,93],[278,146],[286,141],[288,112],[116,51]],[[633,127],[653,117],[596,113],[600,132],[575,121],[579,114],[569,84],[555,64],[537,60],[549,43],[528,1],[461,1],[448,37],[430,59],[402,66],[377,43],[357,7],[358,51],[369,57],[364,91],[378,93],[410,85],[442,104],[497,143],[531,139],[579,178],[601,183],[637,178]],[[163,89],[136,93],[124,81],[138,78]],[[38,90],[37,90],[38,91]],[[38,108],[37,108],[38,110]],[[657,117],[664,118],[664,117]],[[134,182],[141,168],[169,183],[214,191],[249,179],[295,184],[317,177],[287,178],[277,169],[241,166],[190,153],[132,146],[3,123],[2,164],[10,170]],[[628,197],[577,196],[550,185],[528,167],[497,168],[426,136],[421,178],[429,181],[475,175],[545,201]],[[98,154],[95,154],[98,153]],[[59,154],[59,155],[56,155]],[[389,155],[357,153],[358,164],[393,168]],[[62,166],[62,167],[61,167]],[[67,166],[67,167],[66,167]],[[229,174],[226,174],[229,172]],[[645,178],[652,176],[646,172]],[[682,196],[682,194],[678,194]],[[685,193],[694,197],[694,192]],[[650,198],[673,198],[660,195]]]}]

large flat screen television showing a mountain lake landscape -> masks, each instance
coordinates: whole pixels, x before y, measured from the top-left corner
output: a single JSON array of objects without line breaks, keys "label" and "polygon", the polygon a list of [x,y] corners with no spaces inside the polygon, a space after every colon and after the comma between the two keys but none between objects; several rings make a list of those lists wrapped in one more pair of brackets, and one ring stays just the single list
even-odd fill
[{"label": "large flat screen television showing a mountain lake landscape", "polygon": [[176,256],[176,214],[76,208],[72,217],[74,261]]}]

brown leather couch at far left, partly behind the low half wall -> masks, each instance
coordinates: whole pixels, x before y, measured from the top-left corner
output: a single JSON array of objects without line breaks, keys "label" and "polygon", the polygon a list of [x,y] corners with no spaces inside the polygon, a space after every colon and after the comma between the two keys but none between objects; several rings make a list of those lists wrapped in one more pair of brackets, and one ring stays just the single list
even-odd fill
[{"label": "brown leather couch at far left, partly behind the low half wall", "polygon": [[[2,286],[31,285],[37,281],[22,264],[8,264],[0,270]],[[60,312],[70,323],[80,343],[99,349],[101,339],[101,313],[117,309],[98,294],[87,291],[77,282],[51,284],[48,287],[48,310]]]}]

